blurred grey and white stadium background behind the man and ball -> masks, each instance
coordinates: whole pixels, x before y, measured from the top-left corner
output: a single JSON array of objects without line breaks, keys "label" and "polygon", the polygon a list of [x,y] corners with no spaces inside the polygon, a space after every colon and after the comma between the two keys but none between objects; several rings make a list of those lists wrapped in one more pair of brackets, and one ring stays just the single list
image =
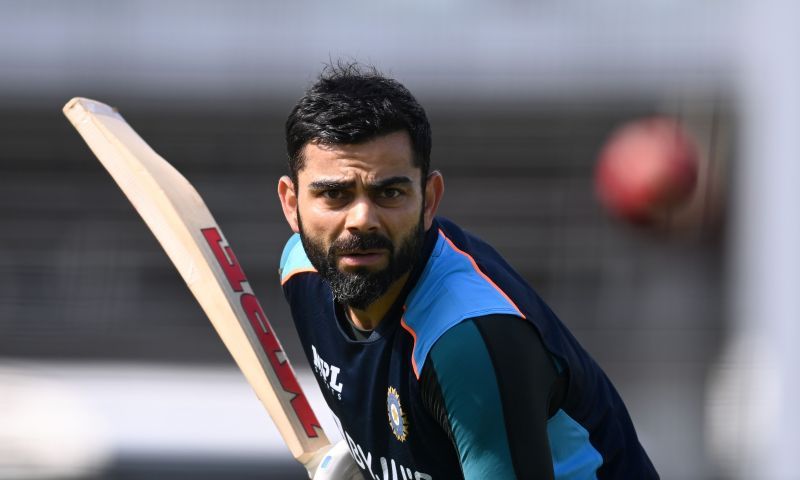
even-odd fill
[{"label": "blurred grey and white stadium background behind the man and ball", "polygon": [[[797,10],[780,0],[0,3],[0,478],[304,477],[61,106],[79,95],[117,106],[195,185],[307,376],[278,287],[289,230],[275,185],[289,109],[339,58],[375,64],[426,107],[442,213],[506,255],[595,356],[663,478],[800,478],[791,455],[774,475],[747,456],[776,438],[775,452],[800,445],[796,433],[773,435],[775,418],[798,426],[787,416],[797,392],[781,388],[796,367],[739,375],[737,348],[760,350],[734,341],[762,313],[764,338],[785,340],[777,363],[797,338],[787,320],[800,315],[800,200],[787,159],[800,153],[800,43],[786,20]],[[652,114],[696,136],[701,177],[687,207],[642,229],[602,209],[593,175],[609,134]],[[763,284],[781,288],[753,291]],[[765,377],[775,382],[756,388]],[[774,415],[753,420],[731,382],[766,391],[756,400]]]}]

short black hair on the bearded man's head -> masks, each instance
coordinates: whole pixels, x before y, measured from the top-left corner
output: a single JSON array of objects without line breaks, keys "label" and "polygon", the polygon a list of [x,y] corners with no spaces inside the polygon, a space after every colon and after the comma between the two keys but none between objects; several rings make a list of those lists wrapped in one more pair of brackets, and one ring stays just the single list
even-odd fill
[{"label": "short black hair on the bearded man's head", "polygon": [[303,147],[309,142],[358,144],[398,131],[411,137],[413,164],[422,170],[424,184],[430,170],[431,127],[411,92],[372,66],[327,65],[286,120],[292,181],[297,185]]}]

